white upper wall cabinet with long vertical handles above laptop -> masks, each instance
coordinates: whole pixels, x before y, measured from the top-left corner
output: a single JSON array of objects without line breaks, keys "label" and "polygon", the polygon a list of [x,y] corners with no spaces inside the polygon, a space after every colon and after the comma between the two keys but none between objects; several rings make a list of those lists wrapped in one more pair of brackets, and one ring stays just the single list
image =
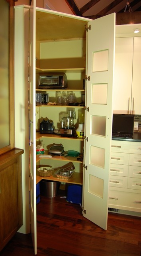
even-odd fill
[{"label": "white upper wall cabinet with long vertical handles above laptop", "polygon": [[141,114],[141,37],[124,36],[115,43],[113,112]]}]

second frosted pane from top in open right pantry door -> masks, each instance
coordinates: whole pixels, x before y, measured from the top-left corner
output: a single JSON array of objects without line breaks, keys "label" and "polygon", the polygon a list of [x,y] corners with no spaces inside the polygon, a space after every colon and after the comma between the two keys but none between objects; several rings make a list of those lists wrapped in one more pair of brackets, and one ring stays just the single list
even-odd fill
[{"label": "second frosted pane from top in open right pantry door", "polygon": [[107,104],[107,84],[92,84],[92,104]]}]

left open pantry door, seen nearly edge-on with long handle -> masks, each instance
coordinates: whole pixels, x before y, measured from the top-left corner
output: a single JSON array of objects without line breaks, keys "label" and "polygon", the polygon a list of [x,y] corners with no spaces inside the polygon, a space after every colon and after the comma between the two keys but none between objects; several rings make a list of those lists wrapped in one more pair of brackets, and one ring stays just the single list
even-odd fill
[{"label": "left open pantry door, seen nearly edge-on with long handle", "polygon": [[36,112],[35,112],[35,1],[29,10],[29,170],[30,225],[34,253],[37,254],[36,224]]}]

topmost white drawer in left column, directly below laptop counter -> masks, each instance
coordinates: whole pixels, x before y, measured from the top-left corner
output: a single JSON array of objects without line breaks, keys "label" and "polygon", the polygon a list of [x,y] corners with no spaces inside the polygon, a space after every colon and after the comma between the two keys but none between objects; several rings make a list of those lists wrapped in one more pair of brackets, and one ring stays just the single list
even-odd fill
[{"label": "topmost white drawer in left column, directly below laptop counter", "polygon": [[111,143],[111,152],[129,152],[129,144],[123,141],[112,140]]}]

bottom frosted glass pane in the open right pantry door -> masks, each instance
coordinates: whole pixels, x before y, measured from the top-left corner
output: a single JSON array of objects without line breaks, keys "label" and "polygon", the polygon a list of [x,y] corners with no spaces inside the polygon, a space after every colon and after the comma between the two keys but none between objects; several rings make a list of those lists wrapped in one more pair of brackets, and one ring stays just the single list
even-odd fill
[{"label": "bottom frosted glass pane in the open right pantry door", "polygon": [[95,196],[99,196],[103,198],[103,187],[104,187],[104,180],[93,176],[90,174],[89,176],[89,192],[94,194]]}]

